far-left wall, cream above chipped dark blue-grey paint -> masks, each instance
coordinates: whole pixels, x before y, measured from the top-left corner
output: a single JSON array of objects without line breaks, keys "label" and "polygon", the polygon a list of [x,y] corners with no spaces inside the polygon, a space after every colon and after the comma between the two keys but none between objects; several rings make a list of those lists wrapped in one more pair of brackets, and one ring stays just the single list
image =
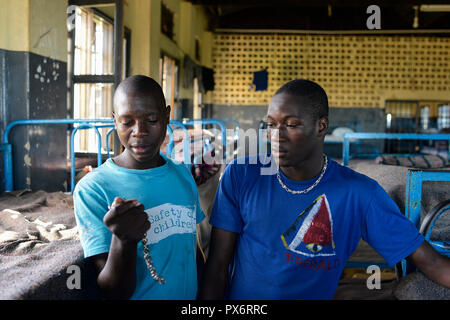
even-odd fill
[{"label": "far-left wall, cream above chipped dark blue-grey paint", "polygon": [[[67,116],[66,10],[64,0],[0,0],[0,134],[15,120]],[[66,190],[67,126],[16,127],[9,138],[15,189]]]}]

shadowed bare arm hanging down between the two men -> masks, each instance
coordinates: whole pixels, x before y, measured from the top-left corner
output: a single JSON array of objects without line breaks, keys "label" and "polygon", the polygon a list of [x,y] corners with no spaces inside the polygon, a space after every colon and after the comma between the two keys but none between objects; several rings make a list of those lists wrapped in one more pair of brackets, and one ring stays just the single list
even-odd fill
[{"label": "shadowed bare arm hanging down between the two men", "polygon": [[199,288],[199,299],[224,299],[228,265],[233,256],[236,238],[237,233],[212,228],[210,251]]}]

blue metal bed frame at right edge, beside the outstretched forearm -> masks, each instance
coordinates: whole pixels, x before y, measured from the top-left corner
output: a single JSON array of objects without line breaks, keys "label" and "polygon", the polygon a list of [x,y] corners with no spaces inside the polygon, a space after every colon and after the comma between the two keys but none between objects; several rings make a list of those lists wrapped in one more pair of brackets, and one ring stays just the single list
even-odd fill
[{"label": "blue metal bed frame at right edge, beside the outstretched forearm", "polygon": [[[424,234],[425,240],[430,243],[439,253],[450,257],[450,243],[444,241],[431,241],[431,231],[437,219],[447,210],[450,210],[450,201],[442,202],[435,212],[430,212],[425,216],[423,222],[420,222],[422,209],[422,184],[424,181],[446,181],[450,182],[450,171],[433,170],[408,170],[406,174],[406,200],[405,215],[411,220],[419,231]],[[449,200],[449,199],[446,199]],[[432,210],[433,211],[433,210]],[[415,267],[407,263],[406,260],[401,261],[402,276],[415,271]]]}]

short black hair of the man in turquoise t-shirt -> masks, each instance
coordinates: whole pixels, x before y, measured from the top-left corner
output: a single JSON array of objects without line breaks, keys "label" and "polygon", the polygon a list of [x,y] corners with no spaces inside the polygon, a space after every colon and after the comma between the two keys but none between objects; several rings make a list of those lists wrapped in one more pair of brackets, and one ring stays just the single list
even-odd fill
[{"label": "short black hair of the man in turquoise t-shirt", "polygon": [[134,75],[126,78],[117,87],[114,98],[116,98],[118,92],[134,92],[149,95],[157,101],[161,107],[166,107],[166,98],[164,97],[164,92],[159,83],[144,75]]}]

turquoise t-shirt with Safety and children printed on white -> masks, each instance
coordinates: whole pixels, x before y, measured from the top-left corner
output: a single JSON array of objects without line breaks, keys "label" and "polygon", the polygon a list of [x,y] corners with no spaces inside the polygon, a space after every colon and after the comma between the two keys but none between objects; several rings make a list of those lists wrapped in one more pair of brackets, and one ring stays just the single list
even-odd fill
[{"label": "turquoise t-shirt with Safety and children printed on white", "polygon": [[103,223],[108,206],[115,197],[135,198],[149,216],[149,252],[156,272],[166,283],[159,284],[151,277],[140,241],[131,299],[195,299],[196,224],[204,214],[190,172],[161,156],[164,165],[146,170],[123,168],[108,159],[80,180],[74,191],[74,207],[81,244],[85,257],[109,252],[112,233]]}]

